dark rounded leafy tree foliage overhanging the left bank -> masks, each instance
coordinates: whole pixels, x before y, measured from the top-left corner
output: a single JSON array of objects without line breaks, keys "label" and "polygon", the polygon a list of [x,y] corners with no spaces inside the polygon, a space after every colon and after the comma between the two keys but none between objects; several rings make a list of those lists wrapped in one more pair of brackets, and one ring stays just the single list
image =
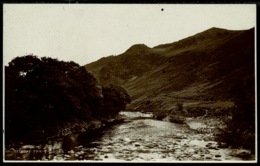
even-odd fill
[{"label": "dark rounded leafy tree foliage overhanging the left bank", "polygon": [[90,120],[109,107],[109,97],[116,101],[108,108],[114,115],[125,108],[126,94],[120,88],[102,94],[96,78],[75,62],[17,57],[5,66],[6,139],[33,139],[63,123]]}]

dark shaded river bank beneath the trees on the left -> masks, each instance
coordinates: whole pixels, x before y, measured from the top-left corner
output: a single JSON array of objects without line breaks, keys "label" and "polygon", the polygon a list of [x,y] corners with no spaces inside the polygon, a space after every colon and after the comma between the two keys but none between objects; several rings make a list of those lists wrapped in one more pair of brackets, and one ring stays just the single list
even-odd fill
[{"label": "dark shaded river bank beneath the trees on the left", "polygon": [[[66,154],[77,145],[78,136],[84,136],[86,142],[95,140],[103,130],[112,125],[122,123],[121,115],[111,119],[77,121],[63,124],[56,134],[47,138],[31,141],[13,141],[5,144],[5,160],[53,160],[55,155]],[[89,136],[91,135],[91,136]],[[86,137],[87,136],[87,137]]]}]

